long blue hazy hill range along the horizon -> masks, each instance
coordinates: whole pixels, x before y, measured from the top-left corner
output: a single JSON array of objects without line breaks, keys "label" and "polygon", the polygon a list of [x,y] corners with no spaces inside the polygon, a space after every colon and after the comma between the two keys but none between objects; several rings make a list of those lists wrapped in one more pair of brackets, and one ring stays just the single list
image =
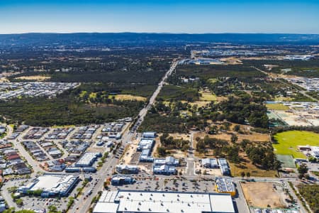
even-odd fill
[{"label": "long blue hazy hill range along the horizon", "polygon": [[318,34],[25,33],[1,34],[0,47],[45,45],[156,45],[185,43],[318,45]]}]

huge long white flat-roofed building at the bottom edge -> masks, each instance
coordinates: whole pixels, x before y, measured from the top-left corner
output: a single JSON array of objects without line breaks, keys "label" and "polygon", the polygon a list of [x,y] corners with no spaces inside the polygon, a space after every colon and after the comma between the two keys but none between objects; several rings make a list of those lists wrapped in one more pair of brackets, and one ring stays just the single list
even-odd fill
[{"label": "huge long white flat-roofed building at the bottom edge", "polygon": [[228,194],[118,190],[104,191],[93,212],[235,213],[235,208]]}]

